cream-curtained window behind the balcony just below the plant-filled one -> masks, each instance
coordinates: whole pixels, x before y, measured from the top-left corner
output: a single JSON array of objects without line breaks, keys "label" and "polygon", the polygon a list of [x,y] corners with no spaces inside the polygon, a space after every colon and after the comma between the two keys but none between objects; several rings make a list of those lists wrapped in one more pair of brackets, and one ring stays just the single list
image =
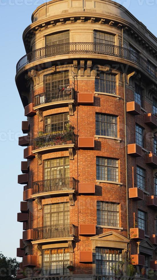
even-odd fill
[{"label": "cream-curtained window behind the balcony just below the plant-filled one", "polygon": [[44,179],[69,177],[69,157],[44,161]]}]

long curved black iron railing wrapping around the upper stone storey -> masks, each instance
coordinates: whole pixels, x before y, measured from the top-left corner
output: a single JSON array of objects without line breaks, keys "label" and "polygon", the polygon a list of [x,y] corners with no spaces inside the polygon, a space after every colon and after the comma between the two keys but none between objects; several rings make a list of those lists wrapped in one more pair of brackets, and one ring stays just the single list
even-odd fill
[{"label": "long curved black iron railing wrapping around the upper stone storey", "polygon": [[148,61],[142,58],[138,53],[135,53],[129,49],[109,45],[102,43],[62,43],[53,46],[46,46],[40,49],[36,49],[26,55],[24,55],[16,65],[16,73],[22,69],[22,67],[32,63],[34,61],[53,57],[57,55],[66,54],[100,54],[109,55],[113,57],[119,57],[126,59],[138,65],[142,70],[147,72],[152,78],[157,81],[157,70]]}]

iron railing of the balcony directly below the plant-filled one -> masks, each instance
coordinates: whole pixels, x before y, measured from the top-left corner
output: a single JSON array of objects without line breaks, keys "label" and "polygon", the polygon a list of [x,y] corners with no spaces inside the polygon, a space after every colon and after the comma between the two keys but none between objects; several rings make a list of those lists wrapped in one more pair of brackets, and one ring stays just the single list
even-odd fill
[{"label": "iron railing of the balcony directly below the plant-filled one", "polygon": [[49,191],[76,190],[77,180],[73,177],[47,179],[32,183],[32,193],[45,193]]}]

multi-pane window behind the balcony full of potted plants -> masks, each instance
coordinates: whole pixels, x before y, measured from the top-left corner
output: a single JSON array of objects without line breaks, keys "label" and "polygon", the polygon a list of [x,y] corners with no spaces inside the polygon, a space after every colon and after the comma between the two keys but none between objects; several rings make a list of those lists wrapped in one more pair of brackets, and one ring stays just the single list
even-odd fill
[{"label": "multi-pane window behind the balcony full of potted plants", "polygon": [[67,123],[69,123],[69,113],[47,116],[45,117],[45,132],[67,130]]}]

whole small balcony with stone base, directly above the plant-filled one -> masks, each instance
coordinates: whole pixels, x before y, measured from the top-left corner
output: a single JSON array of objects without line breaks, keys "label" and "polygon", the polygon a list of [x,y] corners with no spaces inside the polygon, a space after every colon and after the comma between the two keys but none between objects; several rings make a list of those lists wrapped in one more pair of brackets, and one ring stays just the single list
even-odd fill
[{"label": "whole small balcony with stone base, directly above the plant-filled one", "polygon": [[[46,91],[34,96],[34,110],[59,107],[59,104],[67,106],[75,104],[75,91],[73,87],[62,87],[54,91]],[[69,111],[71,107],[69,106]],[[70,111],[70,115],[73,112]]]}]

